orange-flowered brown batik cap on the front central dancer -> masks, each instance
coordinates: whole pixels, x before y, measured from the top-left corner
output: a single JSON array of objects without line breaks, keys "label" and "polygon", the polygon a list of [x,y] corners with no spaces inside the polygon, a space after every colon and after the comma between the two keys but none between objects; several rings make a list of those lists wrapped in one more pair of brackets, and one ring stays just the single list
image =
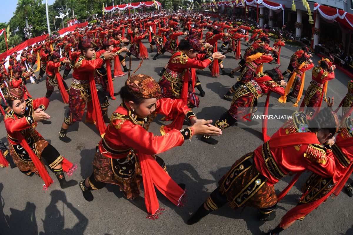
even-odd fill
[{"label": "orange-flowered brown batik cap on the front central dancer", "polygon": [[158,99],[161,96],[161,87],[152,77],[148,75],[133,75],[126,80],[125,86],[134,96],[138,98]]}]

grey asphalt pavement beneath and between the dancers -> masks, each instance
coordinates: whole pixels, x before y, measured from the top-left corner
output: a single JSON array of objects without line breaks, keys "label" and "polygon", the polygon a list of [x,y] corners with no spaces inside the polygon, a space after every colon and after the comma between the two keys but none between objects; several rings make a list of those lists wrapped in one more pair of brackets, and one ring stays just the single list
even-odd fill
[{"label": "grey asphalt pavement beneath and between the dancers", "polygon": [[[143,42],[149,51],[147,40]],[[246,49],[244,41],[241,41],[241,47],[242,54],[244,54]],[[289,45],[282,47],[280,57],[282,72],[287,68],[291,55],[297,49]],[[168,62],[170,54],[166,52],[154,61],[152,57],[155,54],[156,49],[150,54],[150,60],[143,61],[136,74],[147,74],[156,81],[159,80],[158,74]],[[316,65],[319,59],[318,56],[313,56]],[[239,60],[235,60],[233,54],[228,53],[223,65],[229,72],[237,67],[238,62]],[[138,64],[139,61],[133,58],[132,70],[135,70]],[[275,66],[275,64],[265,64],[264,70]],[[61,74],[62,72],[63,70]],[[350,80],[339,69],[335,70],[335,74],[336,78],[330,81],[328,86],[328,97],[334,96],[335,98],[334,108],[346,95],[347,82]],[[240,73],[234,75],[237,78]],[[212,78],[208,68],[200,71],[198,77],[206,94],[205,97],[199,97],[200,106],[193,111],[198,118],[215,121],[229,109],[231,103],[223,100],[222,97],[236,82],[236,79],[227,75]],[[71,78],[70,73],[68,79],[65,80],[68,85],[70,85]],[[127,75],[115,79],[115,92],[118,92],[124,85],[126,78]],[[311,71],[308,71],[305,76],[303,97],[310,81]],[[45,79],[42,79],[38,85],[28,84],[27,88],[34,98],[44,97],[46,94]],[[197,90],[196,93],[198,94]],[[293,107],[293,102],[278,103],[278,98],[277,94],[272,94],[271,107],[281,107],[288,112],[298,109]],[[50,104],[46,112],[51,116],[52,124],[38,123],[37,131],[58,149],[62,156],[78,165],[77,171],[70,179],[82,180],[92,172],[92,160],[100,136],[93,124],[80,122],[71,126],[67,133],[67,136],[72,138],[71,143],[60,141],[58,134],[68,106],[62,103],[58,88],[55,88],[49,100]],[[120,105],[121,100],[117,97],[116,100],[109,102],[108,113],[110,115]],[[263,106],[264,102],[265,97],[259,98],[258,106]],[[161,116],[157,116],[149,129],[155,135],[160,135],[160,126],[165,124],[160,118]],[[270,135],[278,129],[279,124],[276,120],[269,121]],[[7,144],[2,117],[0,118],[0,133],[1,140]],[[223,130],[223,135],[217,137],[217,140],[219,140],[217,145],[209,145],[201,142],[199,136],[195,136],[191,141],[185,141],[183,146],[158,154],[166,162],[170,176],[177,183],[186,184],[188,203],[180,209],[158,192],[160,206],[165,210],[154,221],[145,218],[143,194],[142,197],[131,202],[124,198],[118,186],[107,185],[99,191],[93,191],[94,200],[87,202],[78,186],[62,190],[52,172],[49,172],[49,175],[53,178],[54,184],[49,187],[48,191],[42,191],[41,178],[28,177],[19,172],[17,168],[2,168],[0,169],[0,234],[263,234],[275,228],[281,217],[297,204],[301,185],[309,173],[303,174],[288,195],[278,204],[276,218],[273,221],[257,221],[256,209],[246,207],[233,211],[225,205],[199,223],[186,225],[185,222],[191,213],[217,187],[217,181],[232,164],[263,143],[260,128],[245,128],[242,124]],[[283,190],[291,179],[292,176],[287,176],[276,184],[276,193]],[[352,177],[349,179],[349,182],[351,181]],[[303,221],[295,222],[281,234],[353,234],[352,205],[353,199],[341,193],[335,199],[329,198]]]}]

